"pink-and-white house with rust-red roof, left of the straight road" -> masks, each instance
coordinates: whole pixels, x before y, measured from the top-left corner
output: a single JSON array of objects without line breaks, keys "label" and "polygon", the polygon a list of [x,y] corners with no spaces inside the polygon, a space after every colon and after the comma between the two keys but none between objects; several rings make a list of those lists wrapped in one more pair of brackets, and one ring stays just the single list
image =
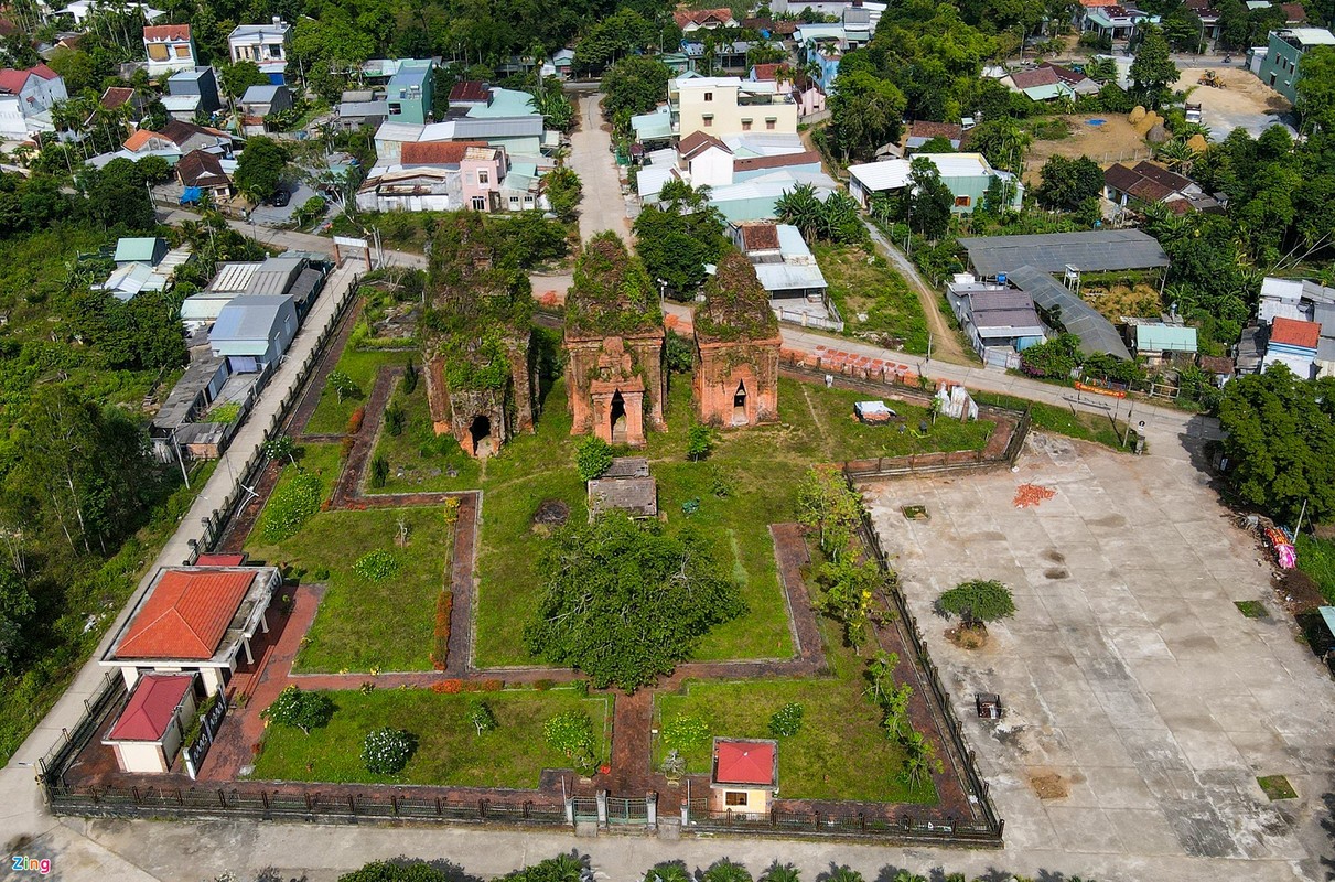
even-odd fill
[{"label": "pink-and-white house with rust-red roof, left of the straight road", "polygon": [[356,205],[363,211],[499,211],[510,207],[502,201],[506,165],[505,151],[485,141],[407,143],[398,163],[371,169]]}]

